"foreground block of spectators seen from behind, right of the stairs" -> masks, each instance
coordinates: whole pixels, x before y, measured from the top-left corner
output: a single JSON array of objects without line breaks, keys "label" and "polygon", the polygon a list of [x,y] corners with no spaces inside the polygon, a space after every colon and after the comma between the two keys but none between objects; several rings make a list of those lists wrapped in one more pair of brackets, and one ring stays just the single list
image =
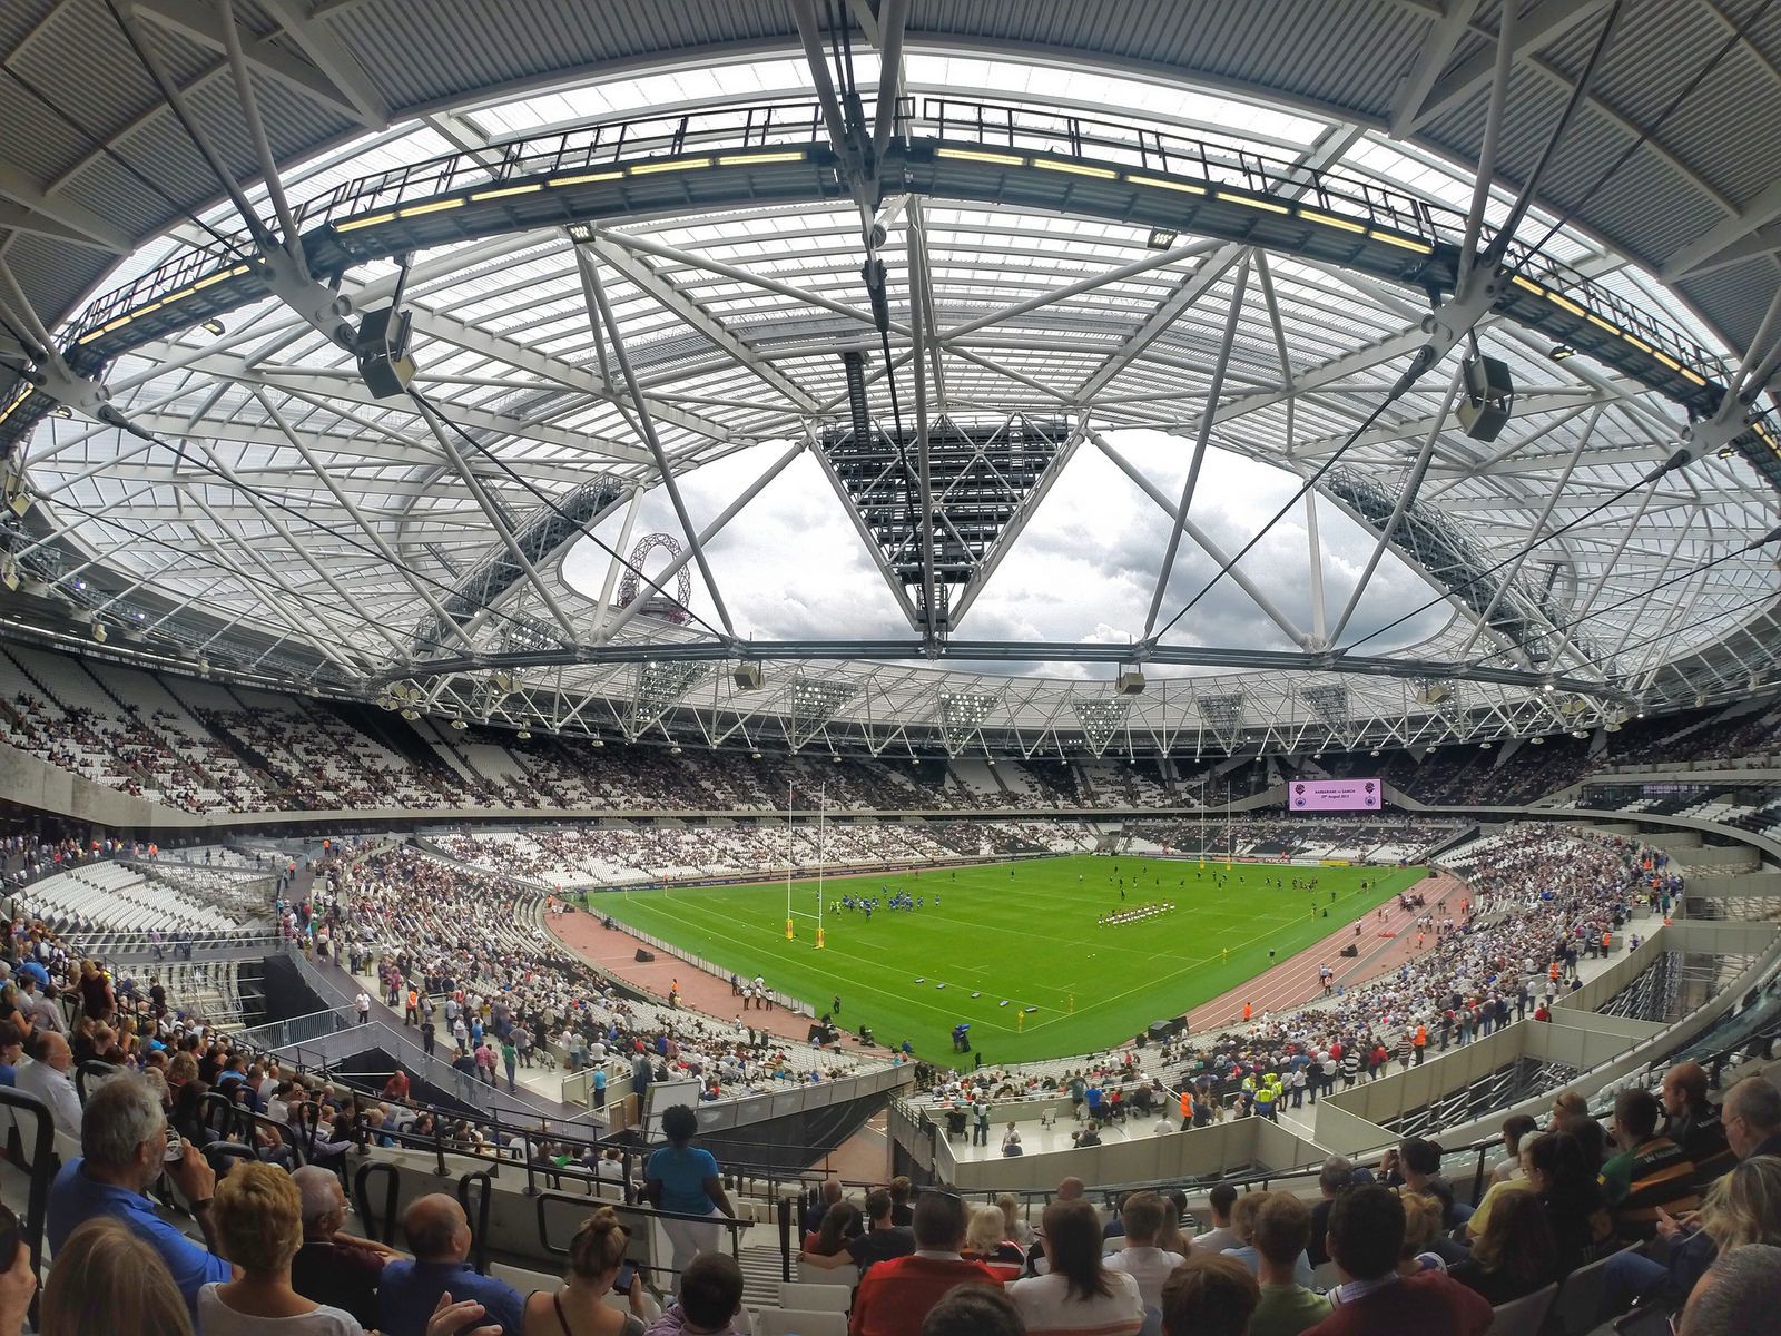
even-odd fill
[{"label": "foreground block of spectators seen from behind, right of the stairs", "polygon": [[1681,1063],[1662,1106],[1624,1090],[1608,1129],[1571,1092],[1544,1128],[1510,1119],[1519,1151],[1476,1206],[1439,1147],[1409,1138],[1377,1169],[1330,1156],[1314,1204],[1218,1183],[1211,1227],[1188,1236],[1179,1192],[1124,1193],[1102,1218],[1065,1179],[1035,1233],[1013,1197],[923,1193],[910,1211],[907,1183],[864,1204],[830,1183],[807,1202],[800,1265],[858,1272],[853,1336],[1484,1336],[1501,1306],[1592,1263],[1585,1325],[1637,1306],[1679,1336],[1756,1336],[1772,1311],[1738,1306],[1781,1299],[1781,1090],[1744,1078],[1724,1117],[1704,1092]]}]

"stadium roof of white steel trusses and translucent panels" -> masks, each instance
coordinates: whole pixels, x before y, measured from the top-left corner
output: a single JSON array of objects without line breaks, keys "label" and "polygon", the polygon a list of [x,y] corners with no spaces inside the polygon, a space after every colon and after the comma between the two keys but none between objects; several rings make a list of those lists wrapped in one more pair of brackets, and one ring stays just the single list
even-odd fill
[{"label": "stadium roof of white steel trusses and translucent panels", "polygon": [[[18,631],[874,750],[1484,739],[1772,659],[1769,4],[1539,0],[1505,43],[1489,0],[226,9],[0,12]],[[379,397],[347,344],[395,297]],[[800,554],[752,524],[789,486],[873,584],[816,632],[725,579]],[[1047,524],[1142,568],[1118,616],[996,602]],[[675,579],[618,606],[652,527]]]}]

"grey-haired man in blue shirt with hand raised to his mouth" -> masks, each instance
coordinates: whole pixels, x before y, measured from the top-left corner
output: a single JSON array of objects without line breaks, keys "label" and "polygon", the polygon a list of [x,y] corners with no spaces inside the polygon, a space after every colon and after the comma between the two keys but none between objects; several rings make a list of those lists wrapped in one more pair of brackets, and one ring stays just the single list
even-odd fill
[{"label": "grey-haired man in blue shirt with hand raised to his mouth", "polygon": [[[173,1149],[178,1149],[178,1158],[169,1160]],[[142,1195],[162,1170],[198,1217],[208,1249],[162,1220]],[[50,1185],[50,1250],[61,1252],[68,1236],[87,1220],[114,1217],[160,1254],[187,1306],[196,1306],[205,1284],[235,1275],[217,1256],[216,1224],[210,1220],[216,1183],[216,1172],[191,1142],[167,1140],[167,1117],[148,1081],[134,1074],[114,1076],[87,1099],[80,1119],[80,1156],[69,1160]]]}]

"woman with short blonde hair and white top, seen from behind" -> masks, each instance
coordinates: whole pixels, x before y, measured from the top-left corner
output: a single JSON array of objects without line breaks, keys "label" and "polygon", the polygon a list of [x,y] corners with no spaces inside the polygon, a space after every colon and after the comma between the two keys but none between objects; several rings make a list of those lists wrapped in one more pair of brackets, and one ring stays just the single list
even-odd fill
[{"label": "woman with short blonde hair and white top, seen from behind", "polygon": [[242,1160],[217,1181],[210,1210],[240,1279],[198,1291],[201,1336],[360,1336],[351,1313],[290,1288],[290,1259],[303,1247],[303,1193],[290,1174]]}]

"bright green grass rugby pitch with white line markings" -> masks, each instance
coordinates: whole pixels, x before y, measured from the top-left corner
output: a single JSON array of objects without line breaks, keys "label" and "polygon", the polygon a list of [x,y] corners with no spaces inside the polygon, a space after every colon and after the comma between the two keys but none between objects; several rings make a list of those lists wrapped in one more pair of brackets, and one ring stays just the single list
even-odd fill
[{"label": "bright green grass rugby pitch with white line markings", "polygon": [[[969,1021],[994,1065],[1124,1042],[1263,973],[1268,948],[1286,960],[1423,875],[1211,860],[1202,871],[1195,860],[1070,855],[825,878],[821,951],[814,880],[791,887],[794,941],[785,941],[785,882],[606,892],[590,907],[744,978],[760,974],[817,1014],[841,994],[844,1026],[869,1024],[880,1044],[907,1039],[930,1062],[971,1062],[949,1053],[953,1026]],[[1293,891],[1293,878],[1316,878],[1316,892]],[[883,908],[899,891],[924,905]],[[846,894],[876,896],[880,908],[871,921],[834,912]],[[1159,901],[1175,908],[1145,923],[1097,923]]]}]

